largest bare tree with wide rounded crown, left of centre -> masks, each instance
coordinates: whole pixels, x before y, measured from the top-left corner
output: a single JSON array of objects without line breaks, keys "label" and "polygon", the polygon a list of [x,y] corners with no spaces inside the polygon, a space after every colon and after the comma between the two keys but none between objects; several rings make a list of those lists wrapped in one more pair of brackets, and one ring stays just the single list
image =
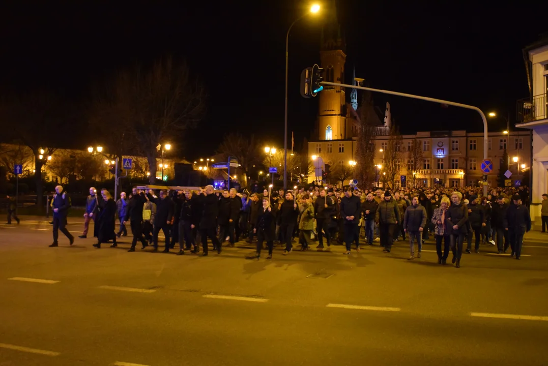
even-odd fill
[{"label": "largest bare tree with wide rounded crown, left of centre", "polygon": [[[150,69],[138,65],[119,72],[96,102],[92,123],[102,129],[109,149],[121,155],[141,153],[149,162],[150,183],[156,180],[158,146],[182,137],[206,111],[206,93],[186,62],[165,57]],[[107,126],[118,128],[113,133]],[[124,133],[119,127],[123,127]],[[109,139],[112,140],[109,140]],[[118,144],[123,142],[123,149]],[[131,151],[125,151],[125,149]]]}]

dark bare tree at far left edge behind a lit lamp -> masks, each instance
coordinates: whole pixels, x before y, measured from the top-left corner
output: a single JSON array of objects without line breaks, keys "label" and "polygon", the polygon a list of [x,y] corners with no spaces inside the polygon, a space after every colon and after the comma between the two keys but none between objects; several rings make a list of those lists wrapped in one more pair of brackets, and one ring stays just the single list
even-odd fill
[{"label": "dark bare tree at far left edge behind a lit lamp", "polygon": [[0,101],[0,120],[8,140],[32,151],[36,183],[36,204],[42,206],[42,167],[52,155],[64,131],[68,113],[61,113],[60,98],[53,92],[40,90],[25,95],[12,94]]}]

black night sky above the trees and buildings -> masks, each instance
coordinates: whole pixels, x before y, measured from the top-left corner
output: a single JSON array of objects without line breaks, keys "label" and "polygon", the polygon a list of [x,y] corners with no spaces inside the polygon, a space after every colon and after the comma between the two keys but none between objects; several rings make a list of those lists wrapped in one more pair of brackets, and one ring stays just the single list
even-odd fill
[{"label": "black night sky above the trees and buildings", "polygon": [[[187,59],[209,95],[206,119],[187,136],[184,155],[212,154],[229,130],[254,133],[282,148],[285,36],[310,3],[181,3],[76,7],[4,2],[0,88],[48,88],[77,102],[87,97],[95,80],[172,54]],[[548,31],[546,15],[533,8],[531,3],[339,1],[347,83],[355,67],[357,77],[372,88],[509,112],[514,122],[516,100],[529,95],[522,49]],[[328,9],[322,10],[299,21],[289,37],[289,131],[295,131],[296,144],[310,137],[317,114],[317,98],[303,99],[298,88],[301,70],[319,63]],[[391,103],[404,133],[482,131],[472,111],[379,94],[374,100],[381,108]],[[490,128],[503,130],[504,125],[493,121]],[[89,143],[85,133],[76,138],[82,146]]]}]

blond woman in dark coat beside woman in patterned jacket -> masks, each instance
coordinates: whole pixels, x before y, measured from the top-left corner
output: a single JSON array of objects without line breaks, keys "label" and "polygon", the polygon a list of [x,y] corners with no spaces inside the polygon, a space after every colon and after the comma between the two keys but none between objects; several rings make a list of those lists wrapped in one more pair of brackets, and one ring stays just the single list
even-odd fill
[{"label": "blond woman in dark coat beside woman in patterned jacket", "polygon": [[452,263],[460,268],[460,258],[463,255],[463,242],[467,234],[466,223],[468,222],[468,208],[462,201],[463,194],[459,191],[451,195],[453,205],[449,206],[446,214],[446,229],[450,232],[450,246],[453,252]]}]

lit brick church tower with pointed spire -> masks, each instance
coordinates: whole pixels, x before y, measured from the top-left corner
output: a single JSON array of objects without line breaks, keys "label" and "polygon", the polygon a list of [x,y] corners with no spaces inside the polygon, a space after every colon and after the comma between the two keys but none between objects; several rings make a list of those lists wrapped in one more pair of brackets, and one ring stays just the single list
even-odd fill
[{"label": "lit brick church tower with pointed spire", "polygon": [[[335,0],[327,9],[328,20],[322,29],[319,58],[326,82],[344,84],[346,45],[337,19]],[[324,86],[319,92],[318,140],[344,140],[346,138],[345,90],[340,86]]]}]

